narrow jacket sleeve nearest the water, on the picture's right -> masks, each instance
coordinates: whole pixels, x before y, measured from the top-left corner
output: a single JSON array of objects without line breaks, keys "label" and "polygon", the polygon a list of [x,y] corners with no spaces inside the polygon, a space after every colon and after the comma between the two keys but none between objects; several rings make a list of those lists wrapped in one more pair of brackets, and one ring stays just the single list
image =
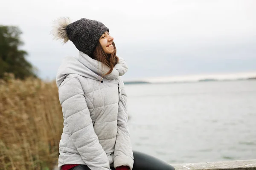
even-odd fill
[{"label": "narrow jacket sleeve nearest the water, on the picture's right", "polygon": [[134,157],[131,147],[131,139],[128,128],[128,113],[126,109],[127,95],[125,86],[120,79],[121,99],[118,108],[117,116],[117,135],[114,152],[114,167],[128,166],[132,170]]}]

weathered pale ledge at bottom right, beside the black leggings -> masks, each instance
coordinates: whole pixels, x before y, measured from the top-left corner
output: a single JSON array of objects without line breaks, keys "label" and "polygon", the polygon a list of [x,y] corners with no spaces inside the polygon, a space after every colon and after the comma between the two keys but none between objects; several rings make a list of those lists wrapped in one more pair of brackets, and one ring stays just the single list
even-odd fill
[{"label": "weathered pale ledge at bottom right, beside the black leggings", "polygon": [[256,159],[241,161],[172,164],[175,170],[256,170]]}]

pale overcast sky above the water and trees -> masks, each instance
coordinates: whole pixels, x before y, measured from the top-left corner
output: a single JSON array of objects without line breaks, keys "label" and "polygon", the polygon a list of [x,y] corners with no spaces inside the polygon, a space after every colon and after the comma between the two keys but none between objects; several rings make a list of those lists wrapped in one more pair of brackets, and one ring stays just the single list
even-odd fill
[{"label": "pale overcast sky above the water and trees", "polygon": [[256,0],[3,0],[0,25],[18,26],[21,48],[42,79],[77,56],[52,40],[58,17],[98,20],[110,29],[123,79],[256,72]]}]

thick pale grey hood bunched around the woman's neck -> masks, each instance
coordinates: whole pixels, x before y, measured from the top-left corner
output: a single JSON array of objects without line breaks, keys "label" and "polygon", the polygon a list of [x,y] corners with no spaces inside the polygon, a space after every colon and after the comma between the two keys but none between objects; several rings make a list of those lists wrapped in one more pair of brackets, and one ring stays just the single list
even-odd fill
[{"label": "thick pale grey hood bunched around the woman's neck", "polygon": [[118,58],[119,61],[114,66],[113,71],[103,77],[102,74],[106,74],[110,68],[102,64],[102,62],[90,58],[87,54],[79,51],[79,56],[77,58],[65,57],[57,71],[57,86],[58,88],[60,87],[68,74],[78,74],[97,81],[101,81],[102,79],[116,79],[118,76],[124,75],[128,70],[125,60],[121,57]]}]

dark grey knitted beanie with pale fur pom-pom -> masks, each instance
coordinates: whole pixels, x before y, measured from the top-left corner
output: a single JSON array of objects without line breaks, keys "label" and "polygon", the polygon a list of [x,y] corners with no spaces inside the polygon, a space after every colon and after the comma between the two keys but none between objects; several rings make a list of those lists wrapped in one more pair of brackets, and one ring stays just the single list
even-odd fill
[{"label": "dark grey knitted beanie with pale fur pom-pom", "polygon": [[109,29],[96,20],[81,18],[71,23],[69,18],[58,18],[54,21],[52,35],[54,39],[62,39],[63,43],[72,41],[79,51],[90,56],[105,31]]}]

